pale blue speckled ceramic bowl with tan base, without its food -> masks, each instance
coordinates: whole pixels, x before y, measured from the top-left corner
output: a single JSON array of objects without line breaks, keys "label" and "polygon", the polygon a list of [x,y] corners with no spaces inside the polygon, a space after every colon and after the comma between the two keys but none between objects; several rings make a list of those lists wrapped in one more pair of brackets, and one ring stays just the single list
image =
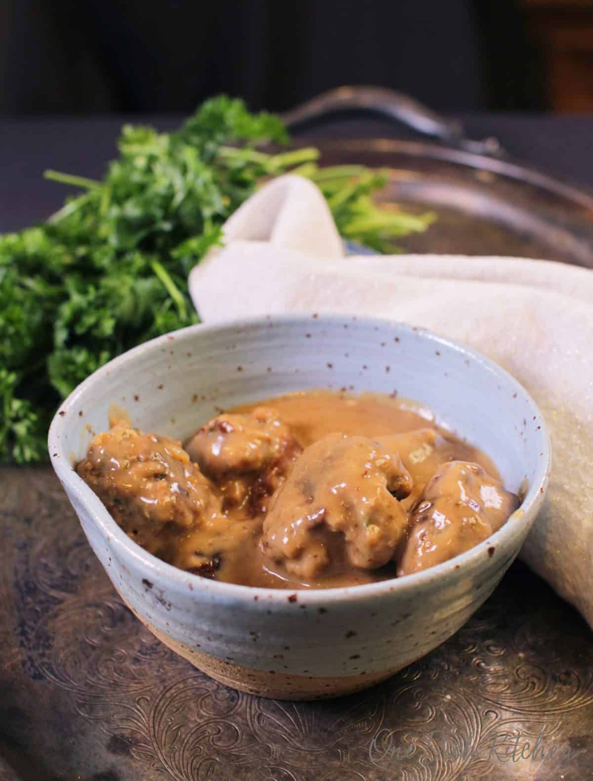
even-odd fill
[{"label": "pale blue speckled ceramic bowl with tan base, without its food", "polygon": [[[305,388],[415,399],[527,486],[502,529],[449,562],[396,580],[268,590],[205,580],[148,554],[73,470],[112,402],[134,425],[185,439],[220,408]],[[399,323],[348,316],[194,326],[103,366],[64,401],[49,452],[95,554],[135,615],[178,654],[237,689],[279,699],[348,694],[428,654],[467,621],[517,555],[542,505],[549,437],[527,392],[473,351]]]}]

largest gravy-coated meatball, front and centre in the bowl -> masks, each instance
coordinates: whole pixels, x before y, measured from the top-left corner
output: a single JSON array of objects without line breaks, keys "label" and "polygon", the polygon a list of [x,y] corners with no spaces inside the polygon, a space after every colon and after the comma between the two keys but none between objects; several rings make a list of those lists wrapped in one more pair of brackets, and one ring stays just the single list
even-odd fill
[{"label": "largest gravy-coated meatball, front and centre in the bowl", "polygon": [[412,479],[399,456],[368,437],[329,434],[305,448],[264,521],[265,558],[311,580],[325,569],[375,569],[407,529],[399,503]]}]

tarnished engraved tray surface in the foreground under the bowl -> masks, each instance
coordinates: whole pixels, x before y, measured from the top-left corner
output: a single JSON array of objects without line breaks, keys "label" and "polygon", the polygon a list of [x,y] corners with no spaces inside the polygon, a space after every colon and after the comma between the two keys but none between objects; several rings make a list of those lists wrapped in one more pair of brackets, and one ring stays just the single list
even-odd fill
[{"label": "tarnished engraved tray surface in the foreground under the bowl", "polygon": [[593,778],[591,632],[521,565],[387,683],[265,700],[137,622],[50,469],[0,471],[2,781]]}]

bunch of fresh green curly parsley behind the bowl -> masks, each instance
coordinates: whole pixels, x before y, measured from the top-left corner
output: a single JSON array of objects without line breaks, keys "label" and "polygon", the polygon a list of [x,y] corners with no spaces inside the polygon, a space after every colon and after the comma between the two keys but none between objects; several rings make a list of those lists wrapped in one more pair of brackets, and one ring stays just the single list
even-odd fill
[{"label": "bunch of fresh green curly parsley behind the bowl", "polygon": [[44,460],[61,398],[115,355],[199,322],[188,273],[261,180],[310,177],[340,233],[379,251],[430,223],[375,205],[382,173],[319,168],[314,148],[258,148],[287,141],[278,117],[222,96],[176,133],[123,127],[101,181],[46,172],[83,192],[46,223],[0,237],[0,461]]}]

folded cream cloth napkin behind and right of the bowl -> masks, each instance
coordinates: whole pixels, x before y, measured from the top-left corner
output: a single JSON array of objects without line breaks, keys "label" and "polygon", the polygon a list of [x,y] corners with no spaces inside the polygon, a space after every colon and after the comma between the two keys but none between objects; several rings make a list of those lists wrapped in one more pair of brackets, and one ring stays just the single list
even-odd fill
[{"label": "folded cream cloth napkin behind and right of the bowl", "polygon": [[321,192],[297,176],[262,187],[224,234],[225,246],[190,274],[205,323],[281,312],[389,317],[468,344],[517,377],[553,448],[549,494],[520,555],[593,628],[593,272],[517,258],[346,257]]}]

